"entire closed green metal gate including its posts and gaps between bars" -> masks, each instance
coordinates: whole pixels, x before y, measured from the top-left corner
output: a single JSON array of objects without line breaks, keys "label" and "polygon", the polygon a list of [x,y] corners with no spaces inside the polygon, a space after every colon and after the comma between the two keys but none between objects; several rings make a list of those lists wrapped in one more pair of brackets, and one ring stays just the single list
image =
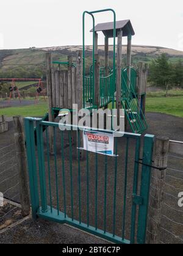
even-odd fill
[{"label": "entire closed green metal gate including its posts and gaps between bars", "polygon": [[121,133],[114,157],[85,152],[81,161],[78,126],[61,131],[59,123],[30,117],[24,122],[33,218],[70,224],[114,243],[145,243],[154,136],[143,138],[142,159],[142,136]]}]

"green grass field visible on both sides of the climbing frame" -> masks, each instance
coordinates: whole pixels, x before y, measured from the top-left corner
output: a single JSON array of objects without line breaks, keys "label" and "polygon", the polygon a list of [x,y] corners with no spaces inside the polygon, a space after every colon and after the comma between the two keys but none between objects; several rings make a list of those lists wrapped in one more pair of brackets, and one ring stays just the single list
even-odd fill
[{"label": "green grass field visible on both sides of the climbing frame", "polygon": [[[12,117],[22,115],[23,117],[41,117],[48,112],[48,103],[40,101],[37,105],[22,106],[16,108],[0,109],[0,115]],[[183,117],[183,95],[180,97],[148,97],[146,98],[146,112],[160,112]]]}]

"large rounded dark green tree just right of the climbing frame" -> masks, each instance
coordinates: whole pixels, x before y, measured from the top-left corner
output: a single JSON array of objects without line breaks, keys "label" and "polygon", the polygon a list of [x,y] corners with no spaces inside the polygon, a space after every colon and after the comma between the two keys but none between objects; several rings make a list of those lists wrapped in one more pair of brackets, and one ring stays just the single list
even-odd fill
[{"label": "large rounded dark green tree just right of the climbing frame", "polygon": [[154,86],[165,88],[167,91],[166,96],[174,75],[173,65],[168,60],[167,54],[162,53],[157,59],[152,60],[149,65],[149,81]]}]

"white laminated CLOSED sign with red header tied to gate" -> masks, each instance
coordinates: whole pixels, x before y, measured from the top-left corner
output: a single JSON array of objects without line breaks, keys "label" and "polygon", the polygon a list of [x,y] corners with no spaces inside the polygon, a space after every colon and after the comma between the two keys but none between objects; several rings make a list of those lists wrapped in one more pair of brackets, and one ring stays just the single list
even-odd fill
[{"label": "white laminated CLOSED sign with red header tied to gate", "polygon": [[113,138],[113,133],[84,130],[84,150],[113,156]]}]

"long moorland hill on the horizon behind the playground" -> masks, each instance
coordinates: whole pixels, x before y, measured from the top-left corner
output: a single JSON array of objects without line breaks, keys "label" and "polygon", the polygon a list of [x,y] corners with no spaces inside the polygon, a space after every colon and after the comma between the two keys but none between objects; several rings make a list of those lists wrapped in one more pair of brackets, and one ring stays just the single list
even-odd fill
[{"label": "long moorland hill on the horizon behind the playground", "polygon": [[[51,51],[53,60],[66,60],[68,55],[75,56],[75,52],[82,46],[54,46],[48,48],[3,49],[0,50],[0,77],[4,78],[45,78],[45,52]],[[91,63],[92,46],[86,46],[87,69]],[[171,62],[183,59],[183,51],[159,46],[132,46],[132,63],[139,61],[151,62],[161,53],[167,53]],[[104,60],[104,46],[99,45],[101,64]],[[109,46],[109,57],[112,58],[112,46]],[[126,46],[123,47],[123,62],[126,62]],[[112,60],[110,60],[112,63]],[[110,64],[109,63],[109,64]]]}]

